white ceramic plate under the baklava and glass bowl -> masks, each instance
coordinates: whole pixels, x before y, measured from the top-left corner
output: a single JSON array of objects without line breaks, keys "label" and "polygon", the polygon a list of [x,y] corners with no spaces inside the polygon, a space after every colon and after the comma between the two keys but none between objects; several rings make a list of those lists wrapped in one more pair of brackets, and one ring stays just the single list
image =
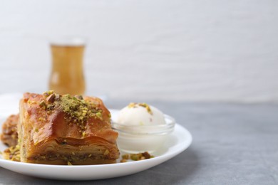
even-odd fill
[{"label": "white ceramic plate under the baklava and glass bowl", "polygon": [[[112,111],[113,112],[113,111]],[[111,112],[111,113],[112,113]],[[113,116],[113,114],[112,114]],[[0,119],[1,123],[4,119]],[[180,152],[187,149],[192,142],[192,136],[181,125],[176,124],[175,130],[163,148],[155,152],[155,157],[136,162],[125,162],[116,164],[103,165],[84,165],[84,166],[60,166],[46,164],[29,164],[23,162],[11,162],[0,157],[0,166],[16,171],[20,174],[36,176],[46,179],[61,179],[61,180],[93,180],[93,179],[108,179],[118,176],[135,174],[139,171],[149,169],[153,166],[161,164],[168,159],[175,157]],[[0,144],[0,151],[6,149],[4,144]]]}]

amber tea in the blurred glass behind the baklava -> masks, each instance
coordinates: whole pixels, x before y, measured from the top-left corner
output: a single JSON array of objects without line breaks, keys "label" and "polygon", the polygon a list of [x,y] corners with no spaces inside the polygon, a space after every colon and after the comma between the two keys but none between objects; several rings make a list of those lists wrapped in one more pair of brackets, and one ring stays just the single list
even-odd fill
[{"label": "amber tea in the blurred glass behind the baklava", "polygon": [[51,45],[52,70],[49,90],[61,95],[85,93],[83,52],[84,46]]}]

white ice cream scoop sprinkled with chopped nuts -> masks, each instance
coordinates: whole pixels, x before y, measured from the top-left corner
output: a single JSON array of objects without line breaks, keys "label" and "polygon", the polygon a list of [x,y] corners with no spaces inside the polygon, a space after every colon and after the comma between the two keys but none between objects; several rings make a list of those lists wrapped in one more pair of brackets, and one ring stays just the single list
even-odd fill
[{"label": "white ice cream scoop sprinkled with chopped nuts", "polygon": [[163,112],[146,103],[130,103],[120,110],[117,122],[121,125],[164,125]]}]

